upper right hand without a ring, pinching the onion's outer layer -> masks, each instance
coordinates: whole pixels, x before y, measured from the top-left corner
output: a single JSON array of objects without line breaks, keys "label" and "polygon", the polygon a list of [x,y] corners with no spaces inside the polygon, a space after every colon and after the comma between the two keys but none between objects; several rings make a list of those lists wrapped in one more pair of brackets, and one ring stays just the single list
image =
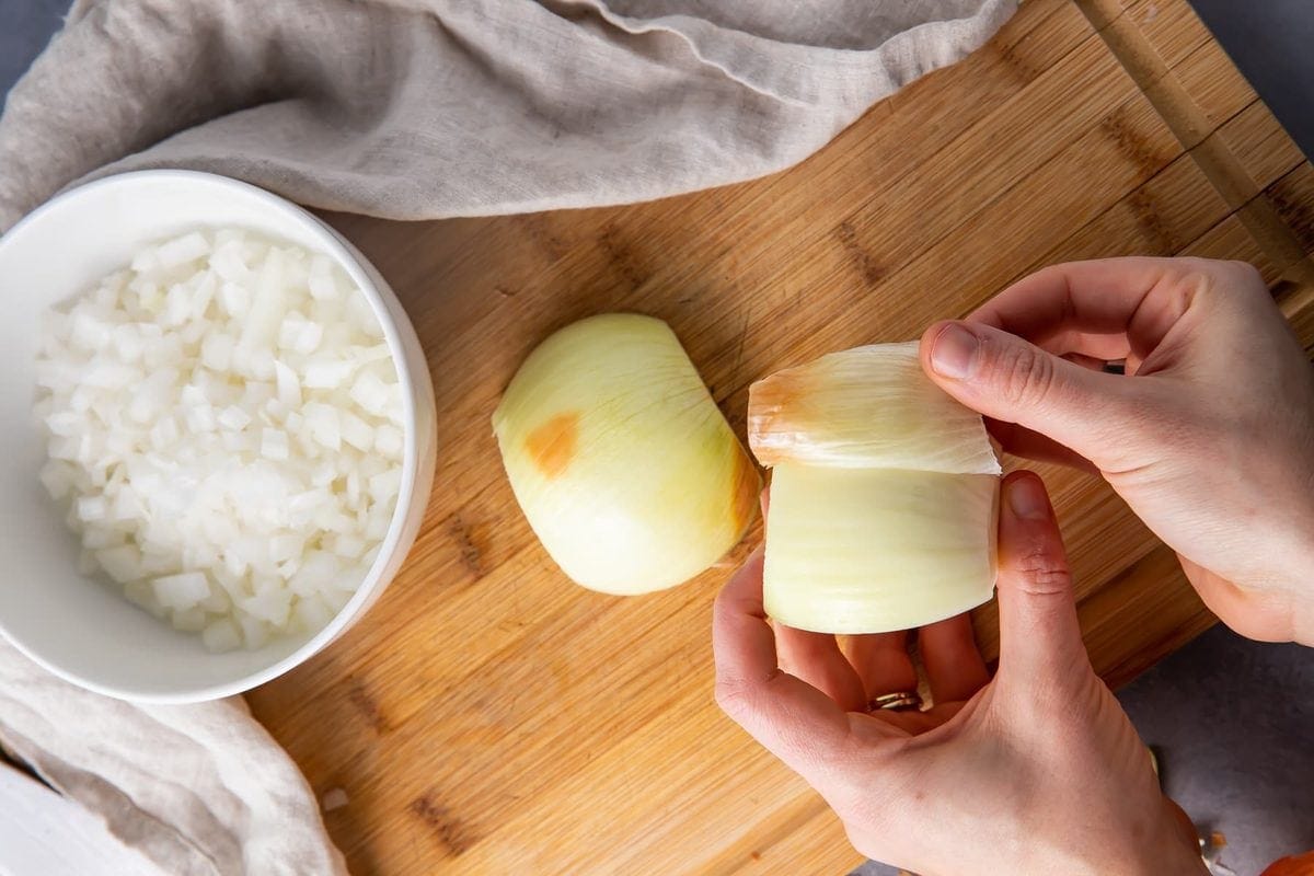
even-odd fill
[{"label": "upper right hand without a ring, pinching the onion's outer layer", "polygon": [[1054,265],[921,355],[1004,449],[1099,470],[1229,626],[1314,645],[1314,372],[1254,268]]}]

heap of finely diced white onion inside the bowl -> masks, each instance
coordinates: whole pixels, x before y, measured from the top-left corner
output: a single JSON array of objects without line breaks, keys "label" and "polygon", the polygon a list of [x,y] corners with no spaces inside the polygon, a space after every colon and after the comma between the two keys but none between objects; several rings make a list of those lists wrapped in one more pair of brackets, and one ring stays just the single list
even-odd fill
[{"label": "heap of finely diced white onion inside the bowl", "polygon": [[215,651],[321,629],[401,489],[381,338],[327,256],[240,230],[148,247],[50,311],[39,478],[68,503],[79,569]]}]

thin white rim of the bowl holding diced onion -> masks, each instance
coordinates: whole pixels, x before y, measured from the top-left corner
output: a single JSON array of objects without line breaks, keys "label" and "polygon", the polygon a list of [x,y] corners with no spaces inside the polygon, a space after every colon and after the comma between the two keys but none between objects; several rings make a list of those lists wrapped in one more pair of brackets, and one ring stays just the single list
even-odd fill
[{"label": "thin white rim of the bowl holding diced onion", "polygon": [[[431,483],[419,485],[417,482],[417,474],[422,474],[420,460],[419,460],[419,447],[418,447],[418,411],[415,405],[415,391],[417,380],[411,374],[410,368],[406,362],[406,345],[402,339],[402,330],[397,324],[392,313],[385,303],[385,297],[392,297],[397,303],[398,311],[403,314],[403,318],[409,320],[405,315],[405,310],[401,307],[401,302],[396,299],[396,293],[388,286],[386,280],[378,273],[378,269],[371,264],[363,253],[360,253],[346,238],[340,236],[332,226],[323,222],[319,217],[314,215],[305,208],[284,198],[283,196],[275,194],[267,189],[238,180],[230,176],[223,176],[221,173],[210,173],[205,171],[188,171],[188,169],[175,169],[175,168],[158,168],[158,169],[143,169],[143,171],[129,171],[124,173],[112,173],[109,176],[102,176],[89,183],[83,183],[72,188],[64,189],[51,197],[49,201],[33,209],[30,213],[24,215],[18,222],[16,222],[4,235],[0,235],[0,260],[4,259],[7,250],[21,246],[24,232],[28,227],[41,222],[50,213],[66,209],[70,202],[75,202],[79,197],[85,196],[89,192],[113,188],[113,186],[131,186],[138,181],[151,180],[151,181],[168,181],[175,180],[181,184],[198,184],[201,186],[215,186],[219,189],[229,189],[238,193],[242,197],[248,197],[260,204],[261,209],[268,209],[275,213],[283,214],[285,218],[305,226],[318,240],[319,251],[323,255],[330,256],[334,261],[346,271],[347,276],[357,285],[357,288],[365,294],[369,306],[374,311],[374,317],[378,319],[380,326],[384,330],[384,339],[388,343],[389,353],[393,359],[393,365],[397,369],[397,380],[402,387],[402,410],[405,416],[405,429],[402,435],[402,481],[401,489],[397,494],[397,504],[393,508],[393,517],[389,523],[388,535],[380,542],[378,554],[374,557],[374,562],[371,565],[365,577],[361,579],[352,594],[351,599],[343,604],[342,608],[332,616],[332,619],[315,634],[309,637],[293,651],[286,654],[273,663],[255,670],[252,672],[246,672],[238,678],[227,682],[218,682],[208,684],[204,687],[188,687],[180,688],[171,692],[160,691],[141,691],[134,690],[131,686],[120,684],[106,684],[104,682],[85,678],[78,672],[66,670],[64,667],[47,661],[42,654],[29,646],[29,644],[16,638],[7,628],[4,619],[0,617],[0,637],[13,645],[20,653],[26,658],[32,659],[34,663],[45,668],[46,671],[59,676],[60,679],[75,684],[80,688],[92,691],[95,693],[102,693],[105,696],[112,696],[120,700],[127,700],[131,703],[143,704],[160,704],[160,705],[173,705],[173,704],[187,704],[187,703],[204,703],[210,700],[219,700],[227,696],[234,696],[250,691],[251,688],[259,687],[267,682],[279,678],[306,662],[317,653],[323,650],[330,642],[332,642],[338,636],[340,636],[352,623],[359,620],[363,611],[378,596],[378,594],[390,583],[381,582],[382,570],[392,559],[393,554],[397,553],[398,542],[402,537],[402,531],[406,528],[406,517],[410,514],[411,503],[415,498],[418,489],[423,489],[426,495],[432,489]],[[202,223],[198,223],[202,225]],[[17,243],[16,243],[17,242]],[[371,273],[374,273],[382,281],[382,286],[374,282]],[[410,331],[414,332],[414,326],[409,326]],[[418,343],[418,335],[415,336]],[[427,378],[427,374],[424,376]],[[430,394],[432,393],[431,383],[426,380]],[[410,545],[407,545],[407,552]],[[403,558],[405,559],[405,558]],[[163,624],[164,621],[159,621]],[[168,629],[166,626],[166,629]]]}]

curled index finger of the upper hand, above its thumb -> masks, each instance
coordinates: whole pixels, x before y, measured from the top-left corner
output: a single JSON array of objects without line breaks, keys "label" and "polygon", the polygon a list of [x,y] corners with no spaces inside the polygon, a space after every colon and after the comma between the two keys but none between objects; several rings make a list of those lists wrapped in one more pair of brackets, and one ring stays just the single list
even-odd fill
[{"label": "curled index finger of the upper hand, above its thumb", "polygon": [[1144,356],[1185,313],[1194,294],[1189,274],[1209,271],[1202,264],[1102,259],[1051,265],[1013,284],[970,319],[1034,343],[1067,331],[1121,334]]}]

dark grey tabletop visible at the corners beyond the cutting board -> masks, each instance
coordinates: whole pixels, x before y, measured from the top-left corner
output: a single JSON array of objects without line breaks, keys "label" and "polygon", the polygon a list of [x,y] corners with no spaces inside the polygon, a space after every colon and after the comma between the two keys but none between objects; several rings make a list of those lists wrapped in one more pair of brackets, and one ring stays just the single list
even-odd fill
[{"label": "dark grey tabletop visible at the corners beyond the cutting board", "polygon": [[[1192,1],[1314,155],[1314,0]],[[68,3],[0,0],[0,93],[46,46]],[[1314,649],[1250,642],[1217,626],[1118,697],[1159,753],[1172,797],[1202,831],[1226,835],[1229,871],[1254,876],[1276,858],[1314,848]],[[869,864],[858,872],[896,871]]]}]

